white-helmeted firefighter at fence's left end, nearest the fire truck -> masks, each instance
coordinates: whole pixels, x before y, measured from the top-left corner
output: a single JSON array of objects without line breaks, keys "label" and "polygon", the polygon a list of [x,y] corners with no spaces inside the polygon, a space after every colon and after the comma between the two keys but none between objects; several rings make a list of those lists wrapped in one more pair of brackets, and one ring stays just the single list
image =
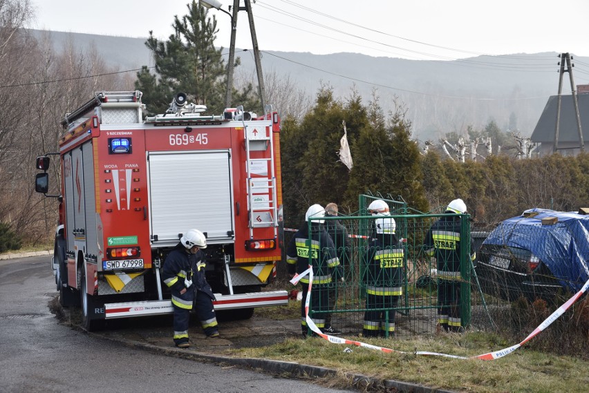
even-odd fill
[{"label": "white-helmeted firefighter at fence's left end, nearest the fire truck", "polygon": [[[320,204],[313,204],[307,209],[305,222],[294,233],[286,248],[286,262],[291,276],[302,273],[309,265],[313,269],[313,282],[309,314],[313,323],[322,333],[335,334],[335,329],[326,330],[326,315],[329,310],[330,282],[333,282],[335,269],[339,268],[339,258],[328,233],[325,231],[323,219],[325,210]],[[317,218],[317,220],[313,220]],[[309,289],[309,278],[299,280],[303,292],[301,301],[301,329],[303,336],[308,335],[305,315],[305,303]]]}]

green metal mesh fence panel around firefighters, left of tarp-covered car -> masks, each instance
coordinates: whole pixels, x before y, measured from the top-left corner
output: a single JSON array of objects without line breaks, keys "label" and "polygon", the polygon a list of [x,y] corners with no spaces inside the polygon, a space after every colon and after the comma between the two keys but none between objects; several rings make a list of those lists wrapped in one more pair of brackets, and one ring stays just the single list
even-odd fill
[{"label": "green metal mesh fence panel around firefighters, left of tarp-covered car", "polygon": [[[471,261],[469,215],[458,214],[407,214],[404,202],[389,202],[391,215],[366,215],[367,201],[371,195],[361,195],[360,214],[321,218],[324,224],[310,219],[309,245],[324,239],[321,232],[330,229],[331,242],[319,242],[315,260],[310,254],[308,262],[319,271],[321,281],[312,286],[310,315],[320,321],[319,327],[332,325],[344,335],[384,336],[434,334],[438,326],[438,276],[445,265],[431,255],[433,244],[431,227],[440,218],[451,216],[458,223],[454,238],[460,238],[455,250],[460,255],[459,271],[452,278],[449,293],[460,296],[451,298],[447,306],[457,328],[471,323]],[[382,199],[382,198],[378,198]],[[394,203],[393,203],[394,202]],[[395,221],[395,233],[377,233],[377,220]],[[384,220],[383,220],[384,219]],[[341,224],[334,233],[334,222]],[[428,239],[429,238],[429,239]],[[446,247],[451,249],[451,243]],[[441,254],[440,254],[441,255]],[[333,256],[340,265],[330,267]],[[317,274],[317,273],[315,273]],[[325,281],[327,279],[327,281]],[[439,329],[439,327],[438,327]]]}]

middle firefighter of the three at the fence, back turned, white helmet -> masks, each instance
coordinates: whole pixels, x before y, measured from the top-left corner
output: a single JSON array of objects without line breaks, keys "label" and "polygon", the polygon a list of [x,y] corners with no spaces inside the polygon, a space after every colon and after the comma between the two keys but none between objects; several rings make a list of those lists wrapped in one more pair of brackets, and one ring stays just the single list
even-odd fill
[{"label": "middle firefighter of the three at the fence, back turned, white helmet", "polygon": [[362,335],[393,337],[395,307],[403,294],[404,251],[395,235],[395,219],[390,215],[378,217],[375,220],[376,236],[369,243],[366,252],[366,311]]}]

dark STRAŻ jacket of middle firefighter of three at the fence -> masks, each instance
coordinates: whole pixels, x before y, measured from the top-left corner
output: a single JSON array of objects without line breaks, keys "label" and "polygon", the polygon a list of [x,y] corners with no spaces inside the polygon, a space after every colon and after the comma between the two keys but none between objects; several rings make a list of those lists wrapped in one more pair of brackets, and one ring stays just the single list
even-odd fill
[{"label": "dark STRA\u017b jacket of middle firefighter of three at the fence", "polygon": [[[386,239],[384,238],[386,237]],[[378,234],[366,251],[364,282],[371,287],[389,288],[399,296],[402,287],[404,251],[395,235]],[[393,290],[394,289],[394,290]]]}]

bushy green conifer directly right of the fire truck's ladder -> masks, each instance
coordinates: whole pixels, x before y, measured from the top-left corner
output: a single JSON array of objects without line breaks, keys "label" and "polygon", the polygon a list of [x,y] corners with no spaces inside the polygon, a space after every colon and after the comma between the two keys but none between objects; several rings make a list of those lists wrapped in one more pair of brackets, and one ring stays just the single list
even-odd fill
[{"label": "bushy green conifer directly right of the fire truck's ladder", "polygon": [[339,162],[339,140],[346,122],[348,142],[354,143],[359,130],[368,123],[362,99],[353,92],[346,102],[333,97],[333,90],[323,86],[317,93],[315,106],[300,124],[294,119],[283,122],[281,144],[285,216],[303,217],[314,203],[335,202],[342,213],[357,210],[357,194],[346,198],[350,171]]}]

